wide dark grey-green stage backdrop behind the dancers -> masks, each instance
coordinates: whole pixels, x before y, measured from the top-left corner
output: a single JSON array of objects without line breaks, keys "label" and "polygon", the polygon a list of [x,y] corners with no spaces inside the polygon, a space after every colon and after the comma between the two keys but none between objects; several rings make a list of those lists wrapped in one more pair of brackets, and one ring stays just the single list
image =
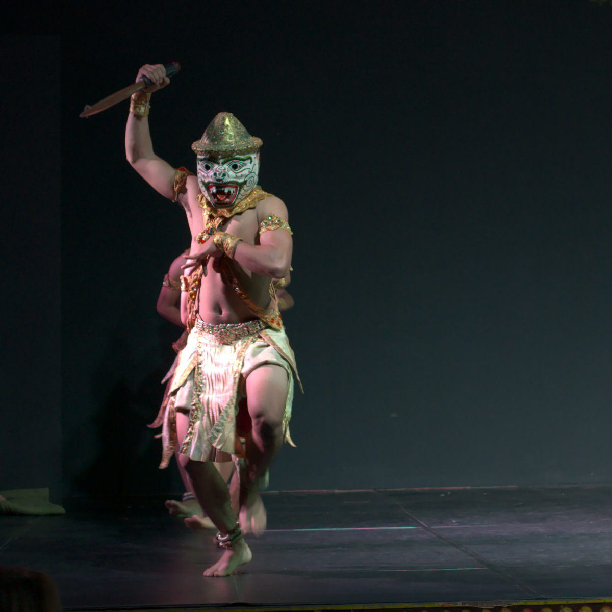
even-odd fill
[{"label": "wide dark grey-green stage backdrop behind the dancers", "polygon": [[230,111],[289,208],[305,395],[272,489],[610,482],[609,4],[170,7],[65,24],[66,491],[181,491],[145,425],[187,223],[125,161],[127,102],[78,117],[171,61],[157,154],[195,171],[191,143]]}]

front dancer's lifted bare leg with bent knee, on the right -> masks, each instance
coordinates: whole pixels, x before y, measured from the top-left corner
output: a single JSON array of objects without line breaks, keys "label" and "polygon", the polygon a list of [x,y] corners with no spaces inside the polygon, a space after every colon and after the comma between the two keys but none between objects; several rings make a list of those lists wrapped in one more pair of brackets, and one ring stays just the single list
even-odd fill
[{"label": "front dancer's lifted bare leg with bent knee, on the right", "polygon": [[258,479],[266,474],[283,444],[288,381],[284,368],[274,364],[261,365],[247,376],[248,414],[253,428],[246,441],[245,473],[241,474],[240,526],[244,533],[261,535],[266,529]]}]

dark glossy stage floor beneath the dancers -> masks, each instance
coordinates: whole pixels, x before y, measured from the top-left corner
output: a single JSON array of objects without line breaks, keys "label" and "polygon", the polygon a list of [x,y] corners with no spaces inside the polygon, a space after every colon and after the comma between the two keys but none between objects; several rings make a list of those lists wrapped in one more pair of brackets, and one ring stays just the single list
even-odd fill
[{"label": "dark glossy stage floor beneath the dancers", "polygon": [[[612,598],[612,487],[267,492],[253,561],[219,556],[162,499],[0,517],[0,564],[50,574],[67,610]],[[545,603],[544,601],[542,603]]]}]

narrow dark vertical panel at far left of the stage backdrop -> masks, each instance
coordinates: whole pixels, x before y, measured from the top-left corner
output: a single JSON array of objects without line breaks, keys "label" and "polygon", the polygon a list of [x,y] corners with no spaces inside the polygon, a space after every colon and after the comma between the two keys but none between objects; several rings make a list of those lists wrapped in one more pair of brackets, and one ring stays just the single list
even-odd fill
[{"label": "narrow dark vertical panel at far left of the stage backdrop", "polygon": [[2,34],[0,57],[0,490],[59,503],[60,37]]}]

